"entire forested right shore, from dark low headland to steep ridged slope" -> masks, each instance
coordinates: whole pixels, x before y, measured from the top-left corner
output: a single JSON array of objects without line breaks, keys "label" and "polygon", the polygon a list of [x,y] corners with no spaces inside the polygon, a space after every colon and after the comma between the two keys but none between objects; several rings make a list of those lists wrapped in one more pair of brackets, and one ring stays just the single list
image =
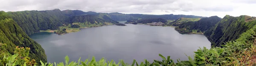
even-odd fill
[{"label": "entire forested right shore, from dark low headland to steep ridged slope", "polygon": [[[235,40],[247,29],[256,24],[256,17],[226,15],[223,19],[212,16],[198,21],[180,23],[175,27],[180,33],[204,34],[212,43],[212,47],[224,45],[224,42]],[[172,24],[172,26],[176,26]]]}]

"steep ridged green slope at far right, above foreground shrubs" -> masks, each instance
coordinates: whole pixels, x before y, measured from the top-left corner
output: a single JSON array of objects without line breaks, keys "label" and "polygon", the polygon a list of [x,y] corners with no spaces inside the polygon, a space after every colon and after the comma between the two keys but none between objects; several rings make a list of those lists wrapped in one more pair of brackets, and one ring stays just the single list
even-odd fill
[{"label": "steep ridged green slope at far right, above foreground shrubs", "polygon": [[255,17],[246,15],[232,17],[226,15],[220,22],[206,31],[204,35],[212,42],[212,46],[221,46],[224,44],[223,42],[237,39],[241,33],[252,28],[255,24]]}]

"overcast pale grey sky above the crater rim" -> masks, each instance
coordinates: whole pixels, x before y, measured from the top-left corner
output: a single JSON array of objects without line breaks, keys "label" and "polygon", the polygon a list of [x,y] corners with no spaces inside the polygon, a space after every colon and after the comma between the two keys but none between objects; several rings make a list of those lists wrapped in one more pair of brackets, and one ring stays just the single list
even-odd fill
[{"label": "overcast pale grey sky above the crater rim", "polygon": [[256,0],[0,0],[0,11],[71,9],[125,14],[256,16]]}]

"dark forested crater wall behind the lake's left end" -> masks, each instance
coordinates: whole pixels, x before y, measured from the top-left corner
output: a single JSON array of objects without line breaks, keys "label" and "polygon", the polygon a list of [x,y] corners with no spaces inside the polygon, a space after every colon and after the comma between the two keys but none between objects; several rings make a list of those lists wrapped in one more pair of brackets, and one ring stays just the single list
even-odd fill
[{"label": "dark forested crater wall behind the lake's left end", "polygon": [[64,14],[61,10],[47,11],[16,11],[7,12],[13,20],[23,29],[26,34],[33,34],[39,30],[59,29],[62,24],[67,24]]}]

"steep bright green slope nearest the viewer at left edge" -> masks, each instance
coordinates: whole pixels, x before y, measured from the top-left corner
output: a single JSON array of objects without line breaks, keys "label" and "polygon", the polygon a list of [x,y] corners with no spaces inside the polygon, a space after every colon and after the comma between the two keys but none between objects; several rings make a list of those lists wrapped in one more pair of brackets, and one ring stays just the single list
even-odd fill
[{"label": "steep bright green slope nearest the viewer at left edge", "polygon": [[[30,48],[28,57],[35,59],[38,63],[40,63],[40,60],[47,62],[47,57],[41,45],[23,32],[21,27],[4,11],[0,11],[0,26],[0,43],[6,44],[4,49],[8,53],[15,54],[16,46],[28,47]],[[0,54],[0,59],[3,59],[3,54]]]}]

